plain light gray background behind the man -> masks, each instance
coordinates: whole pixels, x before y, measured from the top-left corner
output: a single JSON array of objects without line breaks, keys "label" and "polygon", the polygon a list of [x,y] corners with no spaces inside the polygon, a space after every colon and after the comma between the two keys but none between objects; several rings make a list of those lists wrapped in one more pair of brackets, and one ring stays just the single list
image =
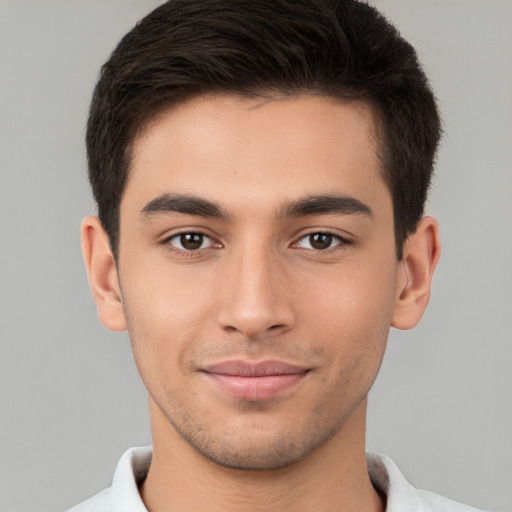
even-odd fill
[{"label": "plain light gray background behind the man", "polygon": [[[0,510],[66,508],[150,442],[125,334],[82,266],[83,134],[100,64],[159,2],[0,0]],[[431,306],[393,332],[368,445],[417,486],[512,511],[512,2],[374,0],[418,49],[446,136]]]}]

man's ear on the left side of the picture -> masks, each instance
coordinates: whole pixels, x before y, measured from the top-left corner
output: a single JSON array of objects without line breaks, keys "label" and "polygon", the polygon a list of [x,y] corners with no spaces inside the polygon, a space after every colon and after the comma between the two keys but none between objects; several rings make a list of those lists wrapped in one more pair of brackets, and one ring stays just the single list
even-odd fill
[{"label": "man's ear on the left side of the picture", "polygon": [[126,319],[117,268],[107,233],[98,217],[82,221],[82,253],[100,322],[112,331],[124,331]]}]

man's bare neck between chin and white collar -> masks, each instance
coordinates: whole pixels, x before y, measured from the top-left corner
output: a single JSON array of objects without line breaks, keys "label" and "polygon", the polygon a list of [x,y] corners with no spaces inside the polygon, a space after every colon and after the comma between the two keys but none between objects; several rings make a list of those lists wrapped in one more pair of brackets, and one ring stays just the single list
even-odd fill
[{"label": "man's bare neck between chin and white collar", "polygon": [[199,454],[151,404],[153,460],[141,488],[150,512],[208,510],[383,512],[366,467],[366,401],[343,428],[285,468],[226,468]]}]

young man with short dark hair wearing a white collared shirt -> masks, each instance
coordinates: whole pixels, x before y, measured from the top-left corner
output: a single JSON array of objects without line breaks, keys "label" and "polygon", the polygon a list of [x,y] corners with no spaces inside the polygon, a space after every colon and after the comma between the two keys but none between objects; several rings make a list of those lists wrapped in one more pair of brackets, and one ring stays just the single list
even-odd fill
[{"label": "young man with short dark hair wearing a white collared shirt", "polygon": [[412,47],[338,0],[171,0],[102,70],[82,225],[153,448],[79,511],[463,511],[365,453],[390,326],[429,299],[440,136]]}]

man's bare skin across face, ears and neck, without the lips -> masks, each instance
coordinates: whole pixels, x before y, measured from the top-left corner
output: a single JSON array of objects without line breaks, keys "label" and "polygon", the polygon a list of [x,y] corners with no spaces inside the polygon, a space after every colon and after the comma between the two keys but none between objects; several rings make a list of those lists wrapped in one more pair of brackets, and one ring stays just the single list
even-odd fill
[{"label": "man's bare skin across face, ears and neck, without the lips", "polygon": [[[135,141],[117,266],[84,220],[100,319],[128,329],[149,393],[150,511],[384,509],[364,457],[367,394],[390,326],[423,314],[439,237],[425,217],[397,261],[375,133],[360,103],[196,98]],[[344,206],[311,207],[326,196]],[[235,397],[205,372],[231,360],[303,374]]]}]

